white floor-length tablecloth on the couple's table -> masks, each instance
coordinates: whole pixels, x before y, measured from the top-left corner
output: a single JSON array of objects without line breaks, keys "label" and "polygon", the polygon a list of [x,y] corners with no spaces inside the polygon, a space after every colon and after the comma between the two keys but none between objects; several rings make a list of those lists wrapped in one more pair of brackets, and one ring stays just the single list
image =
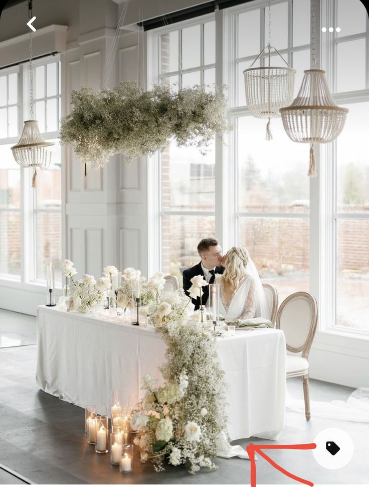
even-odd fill
[{"label": "white floor-length tablecloth on the couple's table", "polygon": [[[110,408],[110,391],[142,397],[140,379],[164,361],[165,345],[151,329],[89,314],[39,306],[37,382],[43,391],[98,411]],[[284,426],[286,372],[283,332],[237,330],[217,339],[229,384],[231,440],[277,439]]]}]

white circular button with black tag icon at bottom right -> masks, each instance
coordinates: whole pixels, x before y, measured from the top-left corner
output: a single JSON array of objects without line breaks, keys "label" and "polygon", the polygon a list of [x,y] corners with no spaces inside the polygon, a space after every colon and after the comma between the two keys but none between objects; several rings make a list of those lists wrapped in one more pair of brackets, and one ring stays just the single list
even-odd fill
[{"label": "white circular button with black tag icon at bottom right", "polygon": [[316,448],[312,450],[315,460],[324,468],[342,468],[351,460],[353,442],[350,436],[339,428],[320,431],[314,439]]}]

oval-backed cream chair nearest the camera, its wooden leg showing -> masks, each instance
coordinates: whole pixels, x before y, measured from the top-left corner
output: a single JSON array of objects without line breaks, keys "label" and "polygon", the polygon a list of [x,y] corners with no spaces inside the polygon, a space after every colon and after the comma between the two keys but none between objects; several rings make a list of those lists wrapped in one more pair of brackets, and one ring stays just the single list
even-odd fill
[{"label": "oval-backed cream chair nearest the camera, its wooden leg showing", "polygon": [[[277,312],[276,328],[283,330],[286,338],[286,373],[289,377],[302,376],[305,417],[310,419],[309,362],[308,356],[316,331],[318,306],[309,293],[293,293],[283,301]],[[300,355],[301,353],[301,355]]]}]

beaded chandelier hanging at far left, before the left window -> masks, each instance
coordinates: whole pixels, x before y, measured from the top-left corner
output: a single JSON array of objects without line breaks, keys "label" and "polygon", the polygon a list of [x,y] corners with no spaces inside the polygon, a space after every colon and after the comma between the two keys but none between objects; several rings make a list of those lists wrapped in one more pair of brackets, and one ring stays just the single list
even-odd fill
[{"label": "beaded chandelier hanging at far left, before the left window", "polygon": [[[28,5],[29,18],[32,19],[32,2]],[[32,30],[30,28],[30,120],[25,120],[21,138],[12,147],[13,156],[21,167],[31,167],[34,170],[32,187],[36,187],[36,168],[47,169],[50,166],[51,152],[46,147],[53,146],[53,142],[46,142],[41,137],[37,120],[33,120],[33,69],[32,69]]]}]

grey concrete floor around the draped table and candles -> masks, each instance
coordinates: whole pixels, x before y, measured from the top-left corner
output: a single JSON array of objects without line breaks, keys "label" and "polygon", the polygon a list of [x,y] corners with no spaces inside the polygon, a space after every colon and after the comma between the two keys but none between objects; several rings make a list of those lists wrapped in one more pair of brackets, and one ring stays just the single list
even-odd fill
[{"label": "grey concrete floor around the draped table and candles", "polygon": [[[1,316],[0,316],[1,317]],[[18,315],[22,321],[24,315]],[[27,325],[25,325],[27,326]],[[0,464],[38,484],[142,483],[142,484],[249,484],[248,460],[217,458],[219,469],[202,470],[189,475],[184,466],[168,467],[155,473],[150,464],[135,460],[132,474],[121,474],[110,465],[109,454],[97,455],[87,444],[84,434],[84,410],[39,390],[35,380],[36,345],[0,349]],[[301,380],[287,381],[292,397],[302,398]],[[352,389],[310,381],[312,400],[346,400]],[[369,478],[369,426],[362,423],[334,421],[286,412],[286,426],[279,444],[311,443],[316,434],[327,427],[345,430],[352,438],[355,453],[339,470],[327,470],[316,463],[311,451],[274,451],[272,458],[287,470],[319,484],[366,484]],[[235,443],[274,443],[257,438]],[[0,465],[1,466],[1,465]],[[3,471],[6,475],[6,472]],[[0,483],[23,483],[17,478],[2,476]],[[3,481],[4,480],[4,481]],[[257,462],[258,484],[295,484],[265,460]]]}]

